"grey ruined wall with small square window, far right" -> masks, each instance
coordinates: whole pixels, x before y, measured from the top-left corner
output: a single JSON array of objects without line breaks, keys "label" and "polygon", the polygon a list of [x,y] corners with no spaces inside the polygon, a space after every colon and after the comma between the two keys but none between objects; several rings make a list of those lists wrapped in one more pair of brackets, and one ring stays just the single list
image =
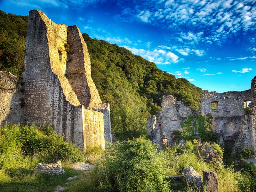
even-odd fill
[{"label": "grey ruined wall with small square window, far right", "polygon": [[[251,146],[250,117],[244,115],[246,101],[252,100],[251,90],[242,92],[207,92],[201,96],[204,115],[214,116],[213,130],[220,133],[220,144]],[[212,108],[212,103],[215,103]]]}]

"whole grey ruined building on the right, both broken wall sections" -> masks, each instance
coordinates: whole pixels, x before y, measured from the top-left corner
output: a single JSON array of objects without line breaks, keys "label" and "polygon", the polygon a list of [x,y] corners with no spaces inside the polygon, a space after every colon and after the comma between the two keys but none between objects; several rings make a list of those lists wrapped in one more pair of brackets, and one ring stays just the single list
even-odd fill
[{"label": "whole grey ruined building on the right, both broken wall sections", "polygon": [[[249,104],[250,102],[250,104]],[[172,95],[164,95],[162,110],[157,116],[148,118],[147,132],[152,142],[164,146],[173,143],[173,132],[182,131],[181,121],[187,120],[192,112],[213,116],[213,132],[220,133],[220,144],[253,148],[256,152],[256,77],[252,79],[251,89],[224,93],[204,91],[201,95],[201,110],[192,111]],[[249,106],[248,106],[249,105]],[[243,110],[249,107],[250,114]]]}]

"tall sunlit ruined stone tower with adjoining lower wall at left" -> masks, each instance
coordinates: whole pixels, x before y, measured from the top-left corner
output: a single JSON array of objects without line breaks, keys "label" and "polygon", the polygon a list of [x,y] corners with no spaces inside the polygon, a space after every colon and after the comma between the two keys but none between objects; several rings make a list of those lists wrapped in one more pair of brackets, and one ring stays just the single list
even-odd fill
[{"label": "tall sunlit ruined stone tower with adjoining lower wall at left", "polygon": [[0,72],[0,125],[6,122],[53,125],[82,149],[112,141],[109,104],[100,100],[78,27],[29,12],[23,78]]}]

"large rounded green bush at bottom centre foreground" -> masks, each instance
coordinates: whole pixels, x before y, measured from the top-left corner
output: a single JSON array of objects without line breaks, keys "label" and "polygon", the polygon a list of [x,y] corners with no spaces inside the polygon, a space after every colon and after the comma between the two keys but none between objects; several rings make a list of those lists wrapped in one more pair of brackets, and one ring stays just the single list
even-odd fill
[{"label": "large rounded green bush at bottom centre foreground", "polygon": [[98,170],[102,191],[169,191],[164,158],[150,140],[128,140],[108,150]]}]

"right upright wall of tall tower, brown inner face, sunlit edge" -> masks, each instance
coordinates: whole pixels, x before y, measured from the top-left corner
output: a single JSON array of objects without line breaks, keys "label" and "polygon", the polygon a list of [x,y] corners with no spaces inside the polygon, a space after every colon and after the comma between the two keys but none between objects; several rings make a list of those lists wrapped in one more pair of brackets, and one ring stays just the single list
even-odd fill
[{"label": "right upright wall of tall tower, brown inner face, sunlit edge", "polygon": [[67,43],[72,50],[68,53],[66,76],[79,102],[87,109],[104,114],[105,141],[112,142],[110,110],[102,103],[92,80],[91,61],[83,36],[76,26],[68,26]]}]

